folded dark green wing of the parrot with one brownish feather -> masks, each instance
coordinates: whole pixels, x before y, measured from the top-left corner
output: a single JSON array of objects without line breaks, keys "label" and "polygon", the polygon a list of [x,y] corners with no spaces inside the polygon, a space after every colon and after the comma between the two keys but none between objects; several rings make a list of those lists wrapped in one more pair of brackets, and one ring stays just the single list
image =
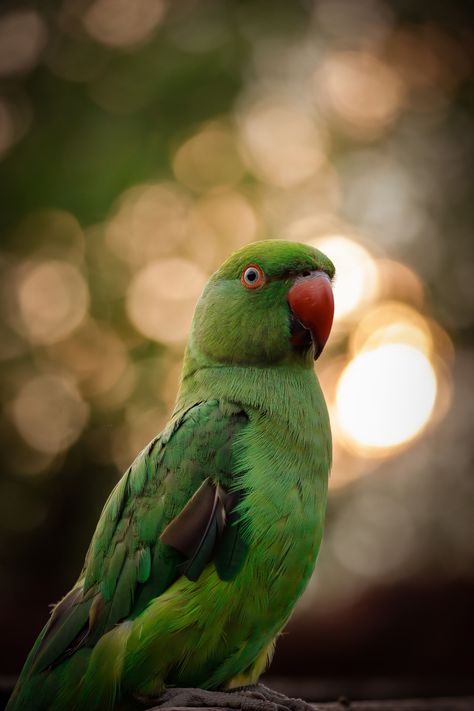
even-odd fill
[{"label": "folded dark green wing of the parrot with one brownish feather", "polygon": [[233,442],[248,421],[237,406],[197,403],[138,455],[102,511],[81,576],[54,607],[24,673],[56,666],[134,618],[180,575],[211,560],[223,580],[242,566]]}]

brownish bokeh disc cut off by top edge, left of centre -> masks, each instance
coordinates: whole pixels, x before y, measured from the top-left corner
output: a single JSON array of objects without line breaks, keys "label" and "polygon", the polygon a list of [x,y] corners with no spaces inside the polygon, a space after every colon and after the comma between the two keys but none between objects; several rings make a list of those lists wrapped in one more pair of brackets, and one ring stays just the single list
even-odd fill
[{"label": "brownish bokeh disc cut off by top edge, left of centre", "polygon": [[83,17],[91,37],[111,47],[131,47],[150,38],[163,13],[161,0],[96,0]]}]

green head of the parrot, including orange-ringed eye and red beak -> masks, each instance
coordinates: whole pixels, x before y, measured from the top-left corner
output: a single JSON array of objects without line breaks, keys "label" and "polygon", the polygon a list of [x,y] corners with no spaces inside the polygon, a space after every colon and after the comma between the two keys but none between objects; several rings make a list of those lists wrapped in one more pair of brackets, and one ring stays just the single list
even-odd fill
[{"label": "green head of the parrot, including orange-ringed eye and red beak", "polygon": [[190,353],[213,363],[310,366],[331,330],[334,271],[306,244],[246,245],[209,279],[196,307]]}]

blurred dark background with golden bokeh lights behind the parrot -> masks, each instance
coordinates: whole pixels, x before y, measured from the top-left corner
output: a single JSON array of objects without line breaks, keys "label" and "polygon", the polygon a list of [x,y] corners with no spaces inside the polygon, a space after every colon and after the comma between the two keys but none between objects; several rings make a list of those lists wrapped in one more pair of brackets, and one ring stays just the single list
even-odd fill
[{"label": "blurred dark background with golden bokeh lights behind the parrot", "polygon": [[209,274],[277,237],[337,279],[327,529],[271,675],[474,691],[469,5],[2,3],[4,686],[166,422]]}]

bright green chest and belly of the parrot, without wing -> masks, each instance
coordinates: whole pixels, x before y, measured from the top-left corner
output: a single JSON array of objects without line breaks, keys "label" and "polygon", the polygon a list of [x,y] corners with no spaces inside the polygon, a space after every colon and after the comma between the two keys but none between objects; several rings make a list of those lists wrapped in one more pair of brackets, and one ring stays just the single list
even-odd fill
[{"label": "bright green chest and belly of the parrot, without wing", "polygon": [[[213,373],[218,382],[223,370]],[[234,380],[232,397],[227,381],[224,396],[213,382],[216,397],[238,403],[248,416],[232,445],[232,478],[243,492],[239,514],[245,562],[231,580],[221,579],[214,565],[197,582],[179,578],[137,623],[140,644],[140,630],[146,627],[160,640],[160,650],[163,634],[172,631],[181,661],[166,677],[168,684],[218,688],[261,659],[251,681],[258,678],[314,569],[331,462],[326,406],[312,372],[288,374],[286,380],[280,372],[254,375]],[[252,404],[257,391],[266,403],[278,395],[279,406]],[[205,650],[202,659],[197,649]],[[241,683],[249,683],[247,677]]]}]

